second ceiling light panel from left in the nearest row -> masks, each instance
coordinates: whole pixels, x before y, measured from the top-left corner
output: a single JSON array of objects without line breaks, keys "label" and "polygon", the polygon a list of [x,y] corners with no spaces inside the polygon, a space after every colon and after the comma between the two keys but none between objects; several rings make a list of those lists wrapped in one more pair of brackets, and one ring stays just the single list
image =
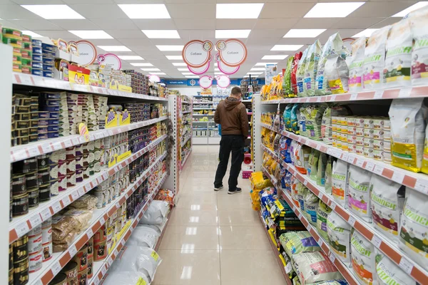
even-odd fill
[{"label": "second ceiling light panel from left in the nearest row", "polygon": [[170,19],[165,4],[118,4],[130,19]]}]

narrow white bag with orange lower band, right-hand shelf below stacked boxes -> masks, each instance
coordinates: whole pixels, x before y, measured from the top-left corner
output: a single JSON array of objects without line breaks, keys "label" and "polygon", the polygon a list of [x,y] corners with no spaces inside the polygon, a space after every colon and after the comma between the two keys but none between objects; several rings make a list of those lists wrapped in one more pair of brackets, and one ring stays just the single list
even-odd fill
[{"label": "narrow white bag with orange lower band, right-hand shelf below stacked boxes", "polygon": [[343,160],[333,162],[332,168],[332,195],[340,206],[345,208],[348,200],[347,178],[348,164]]}]

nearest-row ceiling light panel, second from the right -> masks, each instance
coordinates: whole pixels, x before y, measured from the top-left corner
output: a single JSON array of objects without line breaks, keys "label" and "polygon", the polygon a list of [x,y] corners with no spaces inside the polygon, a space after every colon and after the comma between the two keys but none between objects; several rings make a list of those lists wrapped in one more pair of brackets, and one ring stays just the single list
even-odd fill
[{"label": "nearest-row ceiling light panel, second from the right", "polygon": [[345,18],[365,2],[317,3],[304,18]]}]

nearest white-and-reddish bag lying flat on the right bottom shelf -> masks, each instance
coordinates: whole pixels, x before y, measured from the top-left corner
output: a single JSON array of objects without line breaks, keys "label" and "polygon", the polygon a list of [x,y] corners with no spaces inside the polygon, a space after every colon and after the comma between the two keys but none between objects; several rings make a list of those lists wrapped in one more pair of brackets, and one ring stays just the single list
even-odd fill
[{"label": "nearest white-and-reddish bag lying flat on the right bottom shelf", "polygon": [[322,252],[302,252],[292,257],[292,265],[300,284],[343,279],[332,261]]}]

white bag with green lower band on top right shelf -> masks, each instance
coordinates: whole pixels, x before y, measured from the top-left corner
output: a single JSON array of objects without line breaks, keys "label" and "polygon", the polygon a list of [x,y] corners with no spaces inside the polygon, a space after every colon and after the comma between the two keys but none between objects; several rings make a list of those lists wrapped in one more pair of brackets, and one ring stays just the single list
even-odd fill
[{"label": "white bag with green lower band on top right shelf", "polygon": [[[427,15],[428,16],[428,15]],[[385,56],[385,87],[409,86],[412,66],[412,32],[409,19],[391,26]]]}]

